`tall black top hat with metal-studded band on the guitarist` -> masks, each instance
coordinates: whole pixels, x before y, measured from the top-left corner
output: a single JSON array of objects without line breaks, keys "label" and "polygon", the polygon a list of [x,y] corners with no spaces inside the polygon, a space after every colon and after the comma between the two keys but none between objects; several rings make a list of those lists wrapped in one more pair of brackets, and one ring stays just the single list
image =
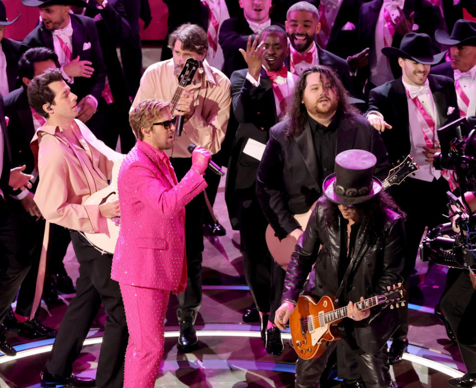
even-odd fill
[{"label": "tall black top hat with metal-studded band on the guitarist", "polygon": [[344,205],[369,200],[382,190],[373,176],[377,158],[362,149],[350,149],[336,156],[335,173],[322,184],[322,192],[332,202]]}]

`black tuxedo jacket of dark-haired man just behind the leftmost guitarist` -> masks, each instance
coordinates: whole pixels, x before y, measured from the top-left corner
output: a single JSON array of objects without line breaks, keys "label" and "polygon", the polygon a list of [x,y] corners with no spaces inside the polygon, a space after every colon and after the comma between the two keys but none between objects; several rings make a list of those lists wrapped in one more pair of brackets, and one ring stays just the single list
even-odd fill
[{"label": "black tuxedo jacket of dark-haired man just behind the leftmost guitarist", "polygon": [[30,148],[30,141],[35,134],[33,117],[28,104],[25,87],[13,90],[5,96],[4,112],[8,122],[11,159],[14,166],[26,165],[25,173],[31,174],[35,169],[35,160]]}]

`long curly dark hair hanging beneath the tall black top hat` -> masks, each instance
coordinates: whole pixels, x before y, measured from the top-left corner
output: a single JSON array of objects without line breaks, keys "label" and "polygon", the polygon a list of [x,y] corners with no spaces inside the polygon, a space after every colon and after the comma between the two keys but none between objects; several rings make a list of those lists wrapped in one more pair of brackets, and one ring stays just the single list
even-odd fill
[{"label": "long curly dark hair hanging beneath the tall black top hat", "polygon": [[[366,225],[367,233],[371,241],[382,237],[385,225],[385,210],[390,209],[399,214],[403,219],[407,214],[403,212],[400,206],[393,200],[390,194],[381,191],[368,201],[354,205],[357,213],[357,222]],[[337,230],[339,228],[339,218],[341,211],[338,204],[326,198],[324,219],[329,228]]]}]

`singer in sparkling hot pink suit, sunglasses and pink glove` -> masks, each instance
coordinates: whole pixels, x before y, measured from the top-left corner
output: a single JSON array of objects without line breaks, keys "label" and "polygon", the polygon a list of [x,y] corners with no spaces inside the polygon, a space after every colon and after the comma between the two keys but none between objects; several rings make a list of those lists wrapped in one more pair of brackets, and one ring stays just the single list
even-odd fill
[{"label": "singer in sparkling hot pink suit, sunglasses and pink glove", "polygon": [[124,387],[153,388],[164,352],[164,319],[172,291],[187,284],[185,205],[207,187],[211,158],[202,147],[177,181],[169,156],[175,126],[168,102],[142,101],[129,114],[137,143],[118,177],[121,225],[111,277],[119,281],[129,344]]}]

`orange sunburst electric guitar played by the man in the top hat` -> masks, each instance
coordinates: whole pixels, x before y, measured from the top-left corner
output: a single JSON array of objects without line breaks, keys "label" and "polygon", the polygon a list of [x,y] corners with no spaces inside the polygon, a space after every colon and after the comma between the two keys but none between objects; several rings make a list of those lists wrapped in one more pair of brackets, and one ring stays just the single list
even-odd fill
[{"label": "orange sunburst electric guitar played by the man in the top hat", "polygon": [[[405,306],[406,293],[402,284],[399,283],[393,289],[388,288],[382,295],[357,302],[355,305],[358,310],[379,305],[390,305],[391,309],[394,304],[396,307]],[[323,296],[317,303],[309,295],[299,296],[296,309],[289,318],[291,340],[297,355],[304,360],[318,358],[324,352],[327,342],[340,339],[337,324],[346,317],[347,306],[336,308],[332,296]]]}]

